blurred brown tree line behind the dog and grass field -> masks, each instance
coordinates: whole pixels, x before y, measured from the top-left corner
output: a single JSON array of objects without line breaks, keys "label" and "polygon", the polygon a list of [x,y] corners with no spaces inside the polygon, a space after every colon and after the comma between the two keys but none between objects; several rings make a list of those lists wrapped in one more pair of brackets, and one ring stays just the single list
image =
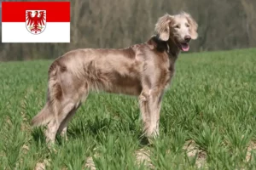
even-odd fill
[{"label": "blurred brown tree line behind the dog and grass field", "polygon": [[124,48],[147,41],[163,14],[182,10],[199,25],[199,37],[192,43],[191,51],[256,47],[255,0],[70,2],[70,43],[1,43],[0,60],[54,59],[75,48]]}]

